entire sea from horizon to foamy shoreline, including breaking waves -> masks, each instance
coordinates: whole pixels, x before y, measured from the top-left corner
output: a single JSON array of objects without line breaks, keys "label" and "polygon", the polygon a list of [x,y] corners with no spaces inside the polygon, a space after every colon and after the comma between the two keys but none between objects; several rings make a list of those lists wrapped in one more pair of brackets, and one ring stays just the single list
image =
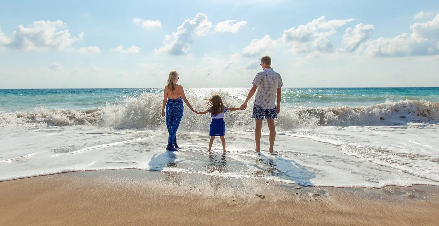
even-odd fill
[{"label": "entire sea from horizon to foamy shoreline, including breaking waves", "polygon": [[[249,88],[186,88],[199,111],[218,93],[241,106]],[[207,153],[209,115],[185,105],[180,151],[166,152],[162,89],[0,89],[0,181],[135,168],[302,186],[439,186],[439,88],[282,88],[277,137],[252,153],[252,100],[227,112],[226,142]]]}]

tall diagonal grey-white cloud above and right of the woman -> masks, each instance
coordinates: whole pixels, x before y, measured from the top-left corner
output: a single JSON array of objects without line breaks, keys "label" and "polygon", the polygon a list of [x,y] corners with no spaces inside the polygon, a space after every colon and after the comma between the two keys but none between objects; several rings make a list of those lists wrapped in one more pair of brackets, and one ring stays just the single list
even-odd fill
[{"label": "tall diagonal grey-white cloud above and right of the woman", "polygon": [[193,20],[187,19],[180,25],[177,31],[172,33],[172,36],[166,35],[163,41],[165,46],[154,49],[154,52],[156,54],[184,55],[189,50],[190,45],[194,43],[194,35],[205,36],[211,27],[212,22],[208,20],[207,16],[198,13]]}]

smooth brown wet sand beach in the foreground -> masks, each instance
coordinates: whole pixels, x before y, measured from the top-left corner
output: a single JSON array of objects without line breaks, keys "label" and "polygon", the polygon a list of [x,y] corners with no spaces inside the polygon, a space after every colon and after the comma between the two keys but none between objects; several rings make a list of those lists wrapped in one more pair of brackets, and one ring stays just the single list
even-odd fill
[{"label": "smooth brown wet sand beach in the foreground", "polygon": [[0,182],[0,225],[439,225],[439,188],[301,187],[140,170]]}]

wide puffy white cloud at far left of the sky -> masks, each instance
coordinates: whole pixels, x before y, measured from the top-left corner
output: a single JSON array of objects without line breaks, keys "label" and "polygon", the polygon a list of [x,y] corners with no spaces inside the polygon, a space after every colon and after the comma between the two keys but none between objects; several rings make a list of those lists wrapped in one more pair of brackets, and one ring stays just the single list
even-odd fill
[{"label": "wide puffy white cloud at far left of the sky", "polygon": [[[77,37],[71,37],[67,24],[61,20],[34,21],[29,27],[22,25],[12,33],[11,37],[0,34],[1,43],[7,47],[22,49],[25,51],[41,50],[47,48],[65,49],[77,41],[84,39],[84,33]],[[6,37],[6,38],[5,38]]]}]

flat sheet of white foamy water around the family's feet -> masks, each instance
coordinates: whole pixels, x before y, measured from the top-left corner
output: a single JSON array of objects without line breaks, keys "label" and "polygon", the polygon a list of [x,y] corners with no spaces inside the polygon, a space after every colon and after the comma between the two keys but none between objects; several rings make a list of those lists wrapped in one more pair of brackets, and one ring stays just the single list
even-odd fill
[{"label": "flat sheet of white foamy water around the family's feet", "polygon": [[[27,135],[24,142],[16,142],[11,135],[0,141],[0,146],[9,147],[1,151],[0,180],[135,168],[264,178],[302,186],[439,186],[439,151],[434,148],[438,143],[430,139],[439,126],[429,128],[407,128],[404,135],[388,126],[284,130],[276,140],[279,155],[269,155],[265,143],[261,155],[252,153],[252,132],[227,131],[229,153],[223,155],[219,141],[212,154],[206,152],[209,136],[204,132],[179,132],[182,150],[170,153],[164,150],[166,131],[114,133],[102,129],[98,134],[80,126],[22,129]],[[7,133],[2,131],[2,137]],[[20,136],[15,134],[17,139]],[[265,130],[262,139],[268,140]]]}]

